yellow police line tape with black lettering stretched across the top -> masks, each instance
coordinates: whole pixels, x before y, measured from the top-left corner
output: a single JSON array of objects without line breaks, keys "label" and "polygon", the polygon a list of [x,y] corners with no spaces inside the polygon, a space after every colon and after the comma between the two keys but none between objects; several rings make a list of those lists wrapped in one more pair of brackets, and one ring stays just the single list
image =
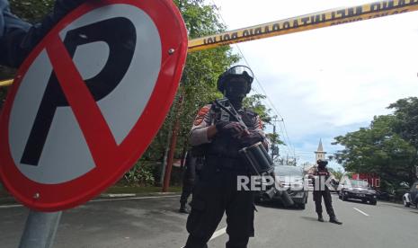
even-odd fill
[{"label": "yellow police line tape with black lettering stretched across the top", "polygon": [[[350,22],[360,22],[416,10],[418,10],[418,0],[380,1],[354,7],[337,8],[189,40],[188,51],[213,49],[248,40],[259,40],[292,32],[314,30]],[[0,82],[0,87],[11,84],[13,84],[13,80],[3,81]]]}]

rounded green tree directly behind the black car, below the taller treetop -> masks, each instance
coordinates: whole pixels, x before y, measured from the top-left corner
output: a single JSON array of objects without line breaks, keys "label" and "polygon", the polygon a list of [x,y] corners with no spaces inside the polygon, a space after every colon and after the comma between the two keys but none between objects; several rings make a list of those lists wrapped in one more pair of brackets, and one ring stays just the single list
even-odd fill
[{"label": "rounded green tree directly behind the black car, below the taller treetop", "polygon": [[414,146],[395,132],[395,115],[375,117],[369,128],[335,137],[334,145],[344,146],[335,159],[345,171],[377,173],[382,185],[398,187],[400,182],[412,182]]}]

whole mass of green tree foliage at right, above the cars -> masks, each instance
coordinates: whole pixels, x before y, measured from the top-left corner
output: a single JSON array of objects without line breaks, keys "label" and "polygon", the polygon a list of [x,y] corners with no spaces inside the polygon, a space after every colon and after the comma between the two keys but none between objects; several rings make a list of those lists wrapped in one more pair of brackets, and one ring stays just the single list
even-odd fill
[{"label": "whole mass of green tree foliage at right, above the cars", "polygon": [[335,137],[344,146],[335,159],[346,171],[377,173],[392,188],[414,182],[417,165],[418,101],[402,99],[389,106],[394,114],[375,117],[368,128]]}]

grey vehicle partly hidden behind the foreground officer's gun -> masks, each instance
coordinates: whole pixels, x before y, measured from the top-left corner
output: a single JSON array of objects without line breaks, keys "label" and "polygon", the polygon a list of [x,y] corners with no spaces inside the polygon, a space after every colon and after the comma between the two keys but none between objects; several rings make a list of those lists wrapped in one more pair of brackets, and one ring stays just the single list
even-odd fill
[{"label": "grey vehicle partly hidden behind the foreground officer's gun", "polygon": [[305,180],[303,169],[298,166],[276,165],[274,173],[276,173],[284,192],[275,190],[273,194],[270,194],[269,190],[271,189],[269,188],[261,190],[257,195],[257,201],[279,200],[284,205],[287,205],[289,200],[283,198],[289,196],[290,201],[293,201],[293,206],[305,209],[308,192],[307,180]]}]

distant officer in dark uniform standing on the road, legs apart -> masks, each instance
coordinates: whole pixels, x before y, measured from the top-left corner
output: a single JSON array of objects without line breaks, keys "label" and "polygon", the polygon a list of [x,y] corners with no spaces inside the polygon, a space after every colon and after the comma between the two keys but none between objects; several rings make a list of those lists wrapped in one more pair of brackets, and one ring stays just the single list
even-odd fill
[{"label": "distant officer in dark uniform standing on the road, legs apart", "polygon": [[328,169],[326,168],[326,164],[328,164],[327,161],[319,159],[316,161],[316,164],[318,165],[314,175],[314,201],[315,201],[315,207],[316,207],[316,213],[318,214],[318,221],[324,222],[324,217],[322,216],[322,198],[324,198],[325,202],[325,209],[326,213],[330,217],[330,222],[335,223],[338,225],[342,225],[342,222],[335,217],[334,208],[333,208],[333,200],[331,198],[331,192],[326,186],[325,182],[329,179],[330,173],[328,172]]}]

